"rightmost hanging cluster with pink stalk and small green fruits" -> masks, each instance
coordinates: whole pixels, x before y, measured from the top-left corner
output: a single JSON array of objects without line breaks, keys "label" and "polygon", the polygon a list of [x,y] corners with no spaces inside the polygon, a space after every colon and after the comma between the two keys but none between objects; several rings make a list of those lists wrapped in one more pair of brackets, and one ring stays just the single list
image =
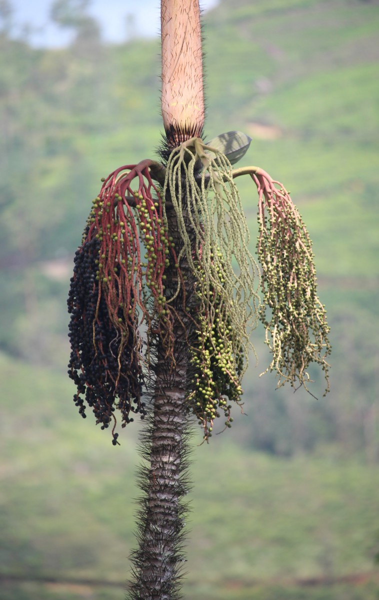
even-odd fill
[{"label": "rightmost hanging cluster with pink stalk and small green fruits", "polygon": [[325,374],[325,395],[329,391],[330,328],[317,296],[311,239],[284,186],[262,169],[255,169],[251,176],[259,197],[257,253],[264,296],[260,319],[273,355],[267,370],[276,370],[278,386],[288,381],[294,388],[304,385],[307,389],[306,370],[315,362]]}]

